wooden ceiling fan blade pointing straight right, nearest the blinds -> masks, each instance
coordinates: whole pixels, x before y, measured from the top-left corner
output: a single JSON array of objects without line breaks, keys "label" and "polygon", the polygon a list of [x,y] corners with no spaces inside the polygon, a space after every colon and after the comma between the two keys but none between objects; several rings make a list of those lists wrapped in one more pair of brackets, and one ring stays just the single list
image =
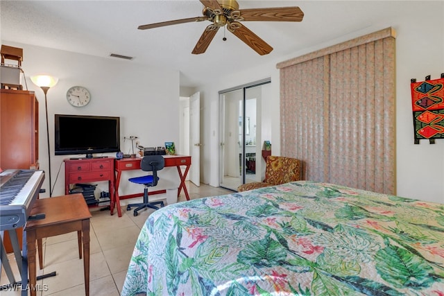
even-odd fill
[{"label": "wooden ceiling fan blade pointing straight right, nearest the blinds", "polygon": [[241,19],[244,21],[302,21],[304,12],[294,7],[252,8],[242,9]]}]

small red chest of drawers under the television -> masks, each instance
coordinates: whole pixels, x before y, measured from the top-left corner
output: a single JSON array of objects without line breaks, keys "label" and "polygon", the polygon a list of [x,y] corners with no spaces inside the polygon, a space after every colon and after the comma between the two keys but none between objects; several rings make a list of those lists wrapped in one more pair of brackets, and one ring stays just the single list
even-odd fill
[{"label": "small red chest of drawers under the television", "polygon": [[114,158],[65,159],[65,194],[69,185],[108,181],[110,200],[114,200]]}]

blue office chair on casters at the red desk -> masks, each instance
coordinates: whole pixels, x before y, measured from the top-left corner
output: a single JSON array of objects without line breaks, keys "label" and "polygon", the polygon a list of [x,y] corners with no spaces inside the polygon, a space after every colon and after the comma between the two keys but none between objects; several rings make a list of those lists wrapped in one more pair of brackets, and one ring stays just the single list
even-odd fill
[{"label": "blue office chair on casters at the red desk", "polygon": [[157,171],[162,170],[164,168],[165,161],[164,157],[162,155],[148,155],[142,158],[140,161],[140,168],[142,171],[146,172],[153,172],[153,175],[145,175],[142,177],[132,177],[128,179],[130,182],[136,183],[136,184],[144,184],[144,202],[139,204],[128,204],[126,207],[127,211],[130,211],[131,207],[137,207],[137,209],[134,210],[134,216],[139,215],[138,211],[144,208],[151,208],[151,209],[159,209],[155,206],[155,204],[160,204],[162,207],[164,207],[164,202],[148,202],[148,187],[153,187],[157,185],[157,181],[159,180],[159,177],[157,177]]}]

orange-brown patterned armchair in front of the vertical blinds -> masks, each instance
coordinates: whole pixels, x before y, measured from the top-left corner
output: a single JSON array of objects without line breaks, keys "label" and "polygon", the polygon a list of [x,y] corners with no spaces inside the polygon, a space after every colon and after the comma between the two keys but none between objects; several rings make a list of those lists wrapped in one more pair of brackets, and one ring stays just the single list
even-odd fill
[{"label": "orange-brown patterned armchair in front of the vertical blinds", "polygon": [[253,190],[298,180],[300,180],[299,159],[270,155],[266,158],[264,182],[242,184],[237,187],[237,191]]}]

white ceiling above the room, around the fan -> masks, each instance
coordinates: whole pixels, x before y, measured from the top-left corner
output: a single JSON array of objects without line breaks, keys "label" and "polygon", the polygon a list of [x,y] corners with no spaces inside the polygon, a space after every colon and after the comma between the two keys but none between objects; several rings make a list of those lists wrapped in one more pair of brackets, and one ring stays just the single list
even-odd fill
[{"label": "white ceiling above the room, around the fan", "polygon": [[391,26],[391,17],[411,3],[415,2],[239,0],[240,9],[299,6],[305,13],[302,22],[244,22],[274,48],[260,56],[228,31],[224,42],[222,28],[205,53],[191,54],[208,21],[137,30],[142,24],[200,17],[203,6],[198,0],[1,0],[1,40],[105,58],[110,53],[129,55],[134,59],[128,62],[179,70],[181,85],[192,87],[368,27]]}]

